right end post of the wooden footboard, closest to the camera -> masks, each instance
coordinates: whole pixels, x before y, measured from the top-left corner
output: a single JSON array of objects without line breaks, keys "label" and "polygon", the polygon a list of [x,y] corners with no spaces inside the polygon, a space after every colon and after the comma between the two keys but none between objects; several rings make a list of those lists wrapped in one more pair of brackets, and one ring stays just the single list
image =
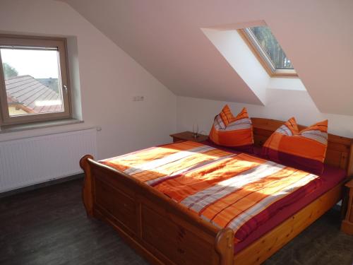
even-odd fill
[{"label": "right end post of the wooden footboard, closest to the camera", "polygon": [[232,265],[234,255],[234,232],[225,228],[216,237],[216,252],[220,255],[220,265]]}]

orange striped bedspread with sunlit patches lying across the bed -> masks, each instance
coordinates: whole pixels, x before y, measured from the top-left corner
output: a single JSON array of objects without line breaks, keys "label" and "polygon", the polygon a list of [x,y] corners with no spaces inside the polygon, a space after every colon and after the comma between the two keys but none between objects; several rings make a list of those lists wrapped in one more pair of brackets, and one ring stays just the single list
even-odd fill
[{"label": "orange striped bedspread with sunlit patches lying across the bed", "polygon": [[[270,218],[281,200],[320,185],[318,176],[246,153],[191,141],[100,161],[145,182],[214,225],[232,228],[239,242]],[[286,199],[287,198],[287,199]]]}]

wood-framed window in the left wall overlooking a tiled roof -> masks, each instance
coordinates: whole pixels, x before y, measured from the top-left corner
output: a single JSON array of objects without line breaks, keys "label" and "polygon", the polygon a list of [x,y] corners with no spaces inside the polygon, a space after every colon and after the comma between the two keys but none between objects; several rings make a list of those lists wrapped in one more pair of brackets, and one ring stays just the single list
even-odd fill
[{"label": "wood-framed window in the left wall overlooking a tiled roof", "polygon": [[0,35],[1,125],[71,117],[66,40]]}]

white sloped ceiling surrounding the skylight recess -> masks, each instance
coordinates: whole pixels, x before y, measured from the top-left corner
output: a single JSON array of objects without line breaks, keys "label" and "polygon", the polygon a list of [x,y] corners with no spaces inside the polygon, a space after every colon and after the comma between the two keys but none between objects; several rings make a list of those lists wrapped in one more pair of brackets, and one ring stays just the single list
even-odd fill
[{"label": "white sloped ceiling surrounding the skylight recess", "polygon": [[321,112],[353,114],[352,0],[61,0],[176,95],[262,104],[201,28],[264,20]]}]

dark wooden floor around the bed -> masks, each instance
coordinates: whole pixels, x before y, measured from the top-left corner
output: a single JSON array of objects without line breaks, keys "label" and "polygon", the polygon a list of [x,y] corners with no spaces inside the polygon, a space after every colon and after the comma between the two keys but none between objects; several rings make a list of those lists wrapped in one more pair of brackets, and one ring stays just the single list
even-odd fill
[{"label": "dark wooden floor around the bed", "polygon": [[[86,217],[82,179],[0,199],[0,264],[146,264],[116,232]],[[353,264],[353,237],[330,211],[265,264]]]}]

